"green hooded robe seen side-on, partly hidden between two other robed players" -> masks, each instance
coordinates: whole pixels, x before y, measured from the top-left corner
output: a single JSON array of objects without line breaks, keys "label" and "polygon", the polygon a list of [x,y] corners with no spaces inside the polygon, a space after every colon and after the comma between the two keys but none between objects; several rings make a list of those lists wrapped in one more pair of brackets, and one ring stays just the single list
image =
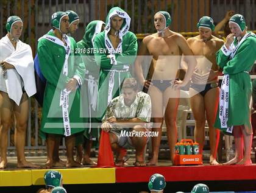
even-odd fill
[{"label": "green hooded robe seen side-on, partly hidden between two other robed players", "polygon": [[[95,36],[101,32],[102,25],[105,24],[103,21],[95,20],[91,21],[86,29],[85,35],[81,41],[77,43],[78,52],[82,55],[84,60],[85,68],[87,69],[87,74],[85,74],[85,82],[82,85],[81,91],[83,92],[83,107],[88,108],[88,127],[85,129],[84,136],[87,139],[99,138],[99,129],[96,127],[98,121],[97,114],[97,95],[98,95],[98,82],[99,82],[99,66],[96,64],[94,58],[93,41]],[[96,92],[96,96],[93,95],[89,97],[88,86]],[[96,98],[96,99],[95,99]],[[94,103],[94,104],[93,104]],[[78,139],[77,144],[83,142],[83,140]]]}]

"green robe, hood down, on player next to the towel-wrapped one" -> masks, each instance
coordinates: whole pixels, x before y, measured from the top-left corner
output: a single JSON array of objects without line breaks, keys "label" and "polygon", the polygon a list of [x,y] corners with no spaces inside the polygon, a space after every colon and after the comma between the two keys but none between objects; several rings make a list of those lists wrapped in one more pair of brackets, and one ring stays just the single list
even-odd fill
[{"label": "green robe, hood down, on player next to the towel-wrapped one", "polygon": [[[52,31],[47,35],[55,37]],[[44,91],[43,117],[41,121],[40,136],[45,139],[46,133],[64,135],[62,107],[60,107],[60,93],[65,89],[66,83],[74,76],[78,77],[82,83],[85,75],[85,66],[79,54],[75,54],[76,41],[68,37],[71,52],[68,57],[68,74],[63,74],[63,64],[65,61],[65,48],[46,38],[38,41],[38,58],[40,69],[46,79],[46,89]],[[80,117],[80,91],[69,93],[68,116],[71,127],[71,135],[84,132],[84,119]]]}]

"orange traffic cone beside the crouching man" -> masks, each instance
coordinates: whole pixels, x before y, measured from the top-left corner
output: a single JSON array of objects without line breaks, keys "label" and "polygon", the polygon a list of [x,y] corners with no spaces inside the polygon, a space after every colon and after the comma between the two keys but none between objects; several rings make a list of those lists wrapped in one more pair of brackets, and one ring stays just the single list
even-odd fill
[{"label": "orange traffic cone beside the crouching man", "polygon": [[109,133],[101,131],[97,167],[114,167],[114,156],[111,149]]}]

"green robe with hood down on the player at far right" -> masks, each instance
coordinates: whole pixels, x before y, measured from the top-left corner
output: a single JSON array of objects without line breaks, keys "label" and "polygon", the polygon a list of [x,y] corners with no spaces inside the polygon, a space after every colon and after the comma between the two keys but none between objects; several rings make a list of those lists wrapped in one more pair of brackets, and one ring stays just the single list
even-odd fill
[{"label": "green robe with hood down on the player at far right", "polygon": [[[236,38],[233,44],[235,46],[238,44]],[[227,50],[225,45],[216,53],[216,62],[220,68],[223,68],[223,74],[229,74],[229,114],[227,127],[244,125],[246,132],[252,133],[249,107],[252,96],[252,81],[248,72],[252,70],[256,60],[255,34],[249,34],[249,37],[240,44],[233,58],[230,58],[230,54],[231,52]],[[214,126],[224,132],[227,130],[227,128],[221,128],[219,107]],[[225,133],[230,135],[230,133]]]}]

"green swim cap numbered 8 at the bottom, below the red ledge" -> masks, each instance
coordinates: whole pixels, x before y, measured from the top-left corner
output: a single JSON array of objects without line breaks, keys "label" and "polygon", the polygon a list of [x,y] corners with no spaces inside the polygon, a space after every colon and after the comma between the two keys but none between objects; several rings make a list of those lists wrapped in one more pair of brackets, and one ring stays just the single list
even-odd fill
[{"label": "green swim cap numbered 8 at the bottom, below the red ledge", "polygon": [[161,174],[153,174],[149,178],[148,187],[150,191],[162,191],[165,189],[165,177]]}]

